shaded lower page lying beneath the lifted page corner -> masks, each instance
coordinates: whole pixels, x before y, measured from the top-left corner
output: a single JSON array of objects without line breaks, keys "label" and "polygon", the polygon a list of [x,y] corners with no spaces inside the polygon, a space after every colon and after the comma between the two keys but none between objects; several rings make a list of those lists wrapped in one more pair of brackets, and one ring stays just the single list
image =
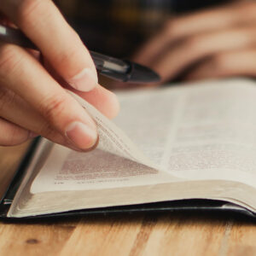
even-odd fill
[{"label": "shaded lower page lying beneath the lifted page corner", "polygon": [[165,183],[171,176],[164,174],[101,149],[82,153],[54,145],[32,183],[31,193]]}]

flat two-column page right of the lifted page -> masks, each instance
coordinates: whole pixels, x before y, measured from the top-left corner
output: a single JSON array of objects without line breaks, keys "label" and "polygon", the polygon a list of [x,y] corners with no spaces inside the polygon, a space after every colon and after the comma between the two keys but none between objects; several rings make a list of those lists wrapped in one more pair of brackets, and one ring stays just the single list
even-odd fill
[{"label": "flat two-column page right of the lifted page", "polygon": [[227,79],[122,93],[123,114],[116,122],[175,176],[256,186],[254,86],[250,80]]}]

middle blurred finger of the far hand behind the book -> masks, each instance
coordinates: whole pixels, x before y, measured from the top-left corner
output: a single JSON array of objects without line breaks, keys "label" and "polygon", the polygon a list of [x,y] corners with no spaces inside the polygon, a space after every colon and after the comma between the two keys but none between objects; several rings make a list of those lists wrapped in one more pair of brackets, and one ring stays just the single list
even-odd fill
[{"label": "middle blurred finger of the far hand behind the book", "polygon": [[221,32],[209,32],[186,38],[169,50],[152,68],[160,73],[162,82],[177,77],[186,68],[195,65],[210,55],[227,50],[239,50],[252,47],[256,43],[254,27],[241,27]]}]

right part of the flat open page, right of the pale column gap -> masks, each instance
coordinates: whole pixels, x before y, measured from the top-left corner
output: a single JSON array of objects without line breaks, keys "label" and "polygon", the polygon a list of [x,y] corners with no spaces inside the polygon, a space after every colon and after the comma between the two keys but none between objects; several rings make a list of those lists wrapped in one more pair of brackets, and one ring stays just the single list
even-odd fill
[{"label": "right part of the flat open page, right of the pale column gap", "polygon": [[168,169],[191,179],[221,177],[256,186],[255,83],[218,86],[187,95],[169,142]]}]

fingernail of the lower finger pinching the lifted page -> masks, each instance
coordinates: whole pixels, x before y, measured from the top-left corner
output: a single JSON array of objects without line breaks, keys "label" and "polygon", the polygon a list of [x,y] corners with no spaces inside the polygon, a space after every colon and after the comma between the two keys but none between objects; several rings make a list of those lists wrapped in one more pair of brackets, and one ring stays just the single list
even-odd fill
[{"label": "fingernail of the lower finger pinching the lifted page", "polygon": [[80,122],[73,122],[67,126],[66,136],[81,149],[92,148],[97,141],[97,132]]}]

